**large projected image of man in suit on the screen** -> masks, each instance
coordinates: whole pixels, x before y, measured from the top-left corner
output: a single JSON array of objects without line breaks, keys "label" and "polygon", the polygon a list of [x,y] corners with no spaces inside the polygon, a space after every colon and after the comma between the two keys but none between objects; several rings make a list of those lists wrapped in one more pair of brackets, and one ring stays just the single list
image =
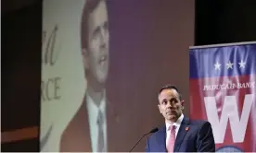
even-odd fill
[{"label": "large projected image of man in suit on the screen", "polygon": [[83,67],[87,90],[83,103],[66,127],[60,152],[106,152],[120,140],[118,116],[107,100],[109,20],[105,0],[86,0],[81,23]]}]

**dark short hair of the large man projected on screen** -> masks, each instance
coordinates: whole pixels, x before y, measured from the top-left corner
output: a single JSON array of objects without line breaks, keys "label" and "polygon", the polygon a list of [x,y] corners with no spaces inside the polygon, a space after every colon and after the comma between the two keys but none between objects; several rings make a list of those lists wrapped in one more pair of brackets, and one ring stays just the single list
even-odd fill
[{"label": "dark short hair of the large man projected on screen", "polygon": [[81,47],[87,49],[89,36],[89,16],[95,10],[96,6],[103,0],[86,0],[83,6],[81,22]]}]

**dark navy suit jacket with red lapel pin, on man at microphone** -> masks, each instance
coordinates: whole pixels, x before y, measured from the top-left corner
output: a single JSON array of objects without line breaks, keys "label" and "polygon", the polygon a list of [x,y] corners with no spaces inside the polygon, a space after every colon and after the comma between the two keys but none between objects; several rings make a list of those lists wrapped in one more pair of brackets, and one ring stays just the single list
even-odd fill
[{"label": "dark navy suit jacket with red lapel pin, on man at microphone", "polygon": [[[167,152],[166,126],[147,139],[146,152]],[[215,152],[211,124],[206,121],[190,121],[184,117],[176,136],[173,152]]]}]

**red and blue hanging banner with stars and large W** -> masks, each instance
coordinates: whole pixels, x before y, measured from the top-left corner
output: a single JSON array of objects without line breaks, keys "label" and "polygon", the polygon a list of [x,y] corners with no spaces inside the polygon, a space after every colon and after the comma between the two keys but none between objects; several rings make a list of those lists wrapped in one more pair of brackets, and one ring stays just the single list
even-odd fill
[{"label": "red and blue hanging banner with stars and large W", "polygon": [[190,117],[211,123],[216,151],[256,151],[256,43],[192,47]]}]

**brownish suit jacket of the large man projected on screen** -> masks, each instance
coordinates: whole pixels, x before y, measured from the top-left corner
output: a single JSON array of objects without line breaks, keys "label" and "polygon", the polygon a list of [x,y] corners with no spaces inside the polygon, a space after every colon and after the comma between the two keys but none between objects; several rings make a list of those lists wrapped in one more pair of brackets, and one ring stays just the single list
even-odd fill
[{"label": "brownish suit jacket of the large man projected on screen", "polygon": [[[60,139],[60,152],[92,152],[89,131],[88,112],[86,109],[86,96],[83,103],[71,119]],[[107,143],[108,151],[115,149],[114,142],[119,140],[118,115],[109,100],[107,100]]]}]

